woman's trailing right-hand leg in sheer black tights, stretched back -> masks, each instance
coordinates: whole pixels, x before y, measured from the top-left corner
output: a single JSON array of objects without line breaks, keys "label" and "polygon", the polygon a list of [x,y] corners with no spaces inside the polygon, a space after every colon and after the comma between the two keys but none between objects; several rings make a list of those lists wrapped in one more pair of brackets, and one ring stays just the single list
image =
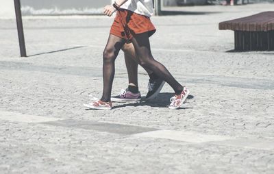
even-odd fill
[{"label": "woman's trailing right-hand leg in sheer black tights, stretched back", "polygon": [[132,38],[132,43],[134,45],[138,60],[140,60],[140,65],[146,69],[150,69],[153,73],[158,75],[158,77],[164,79],[164,81],[173,88],[175,94],[180,95],[184,87],[175,80],[164,65],[154,60],[151,55],[148,34],[135,34],[134,38]]}]

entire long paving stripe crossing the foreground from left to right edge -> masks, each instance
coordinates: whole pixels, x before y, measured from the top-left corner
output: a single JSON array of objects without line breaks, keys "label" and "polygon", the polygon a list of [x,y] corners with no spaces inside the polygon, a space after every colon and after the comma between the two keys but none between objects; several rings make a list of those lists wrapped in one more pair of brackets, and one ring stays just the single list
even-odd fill
[{"label": "entire long paving stripe crossing the foreground from left to right edge", "polygon": [[[64,123],[67,123],[69,121],[69,120],[66,121],[64,119],[55,118],[55,117],[21,114],[18,112],[7,112],[7,111],[1,111],[1,110],[0,110],[0,120],[12,121],[17,123],[48,123],[49,125],[55,125],[55,123],[57,124],[59,123],[58,121],[61,121],[61,120],[63,120]],[[75,123],[76,122],[77,121],[75,121]],[[124,127],[122,126],[121,128],[121,125],[112,124],[112,123],[96,123],[95,125],[94,124],[95,123],[93,124],[90,123],[90,125],[87,124],[86,126],[88,126],[89,129],[104,130],[104,132],[108,132],[106,130],[110,130],[110,128],[112,128],[112,131],[110,131],[110,133],[116,133],[116,134],[123,134],[123,133],[125,134],[125,132],[127,133],[129,132],[129,130],[131,130],[129,129],[131,127],[130,125],[125,125]],[[69,124],[68,127],[83,128],[81,124],[77,124],[77,123],[75,125]],[[127,127],[127,129],[129,130],[125,129],[125,127]],[[162,138],[162,139],[177,140],[177,141],[182,141],[187,143],[208,143],[210,145],[224,145],[224,146],[234,146],[234,147],[242,147],[242,148],[249,148],[249,149],[261,149],[261,150],[274,149],[273,138],[249,139],[249,138],[241,138],[241,137],[208,135],[208,134],[200,134],[198,132],[183,132],[183,131],[175,131],[175,130],[149,131],[149,129],[147,129],[146,131],[148,132],[143,132],[139,134],[132,134],[132,133],[130,134],[136,137]]]}]

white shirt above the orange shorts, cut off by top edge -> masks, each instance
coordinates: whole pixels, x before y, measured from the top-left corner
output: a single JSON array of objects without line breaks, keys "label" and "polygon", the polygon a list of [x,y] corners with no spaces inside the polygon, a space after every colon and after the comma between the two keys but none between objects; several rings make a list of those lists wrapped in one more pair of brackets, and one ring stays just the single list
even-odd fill
[{"label": "white shirt above the orange shorts, cut off by top edge", "polygon": [[120,8],[151,17],[153,15],[153,0],[128,0]]}]

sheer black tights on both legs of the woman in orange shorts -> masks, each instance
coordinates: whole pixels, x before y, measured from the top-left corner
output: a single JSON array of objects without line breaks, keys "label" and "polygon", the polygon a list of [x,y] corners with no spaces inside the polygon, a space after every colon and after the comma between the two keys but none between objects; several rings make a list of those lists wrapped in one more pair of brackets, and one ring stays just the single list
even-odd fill
[{"label": "sheer black tights on both legs of the woman in orange shorts", "polygon": [[[140,65],[153,71],[153,73],[158,75],[158,77],[164,79],[164,81],[173,88],[175,94],[179,95],[184,87],[175,80],[164,65],[154,60],[151,55],[148,34],[144,33],[134,35],[134,38],[132,38],[132,43],[136,51],[136,56],[140,61]],[[110,34],[108,43],[103,51],[103,96],[101,97],[101,101],[110,101],[115,73],[114,62],[124,44],[125,40]]]}]

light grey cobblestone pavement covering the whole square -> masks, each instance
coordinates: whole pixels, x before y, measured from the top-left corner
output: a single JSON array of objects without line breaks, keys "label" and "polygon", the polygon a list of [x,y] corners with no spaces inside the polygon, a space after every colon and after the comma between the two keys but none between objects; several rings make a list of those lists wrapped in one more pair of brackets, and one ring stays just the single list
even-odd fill
[{"label": "light grey cobblestone pavement covering the whole square", "polygon": [[[0,20],[1,173],[274,173],[274,53],[235,53],[233,32],[218,30],[273,8],[205,6],[152,18],[154,57],[191,91],[181,110],[166,108],[168,85],[152,103],[83,108],[88,95],[101,95],[113,18],[24,18],[28,58],[18,57],[14,20]],[[127,85],[122,55],[113,95]],[[142,95],[147,79],[140,69]]]}]

